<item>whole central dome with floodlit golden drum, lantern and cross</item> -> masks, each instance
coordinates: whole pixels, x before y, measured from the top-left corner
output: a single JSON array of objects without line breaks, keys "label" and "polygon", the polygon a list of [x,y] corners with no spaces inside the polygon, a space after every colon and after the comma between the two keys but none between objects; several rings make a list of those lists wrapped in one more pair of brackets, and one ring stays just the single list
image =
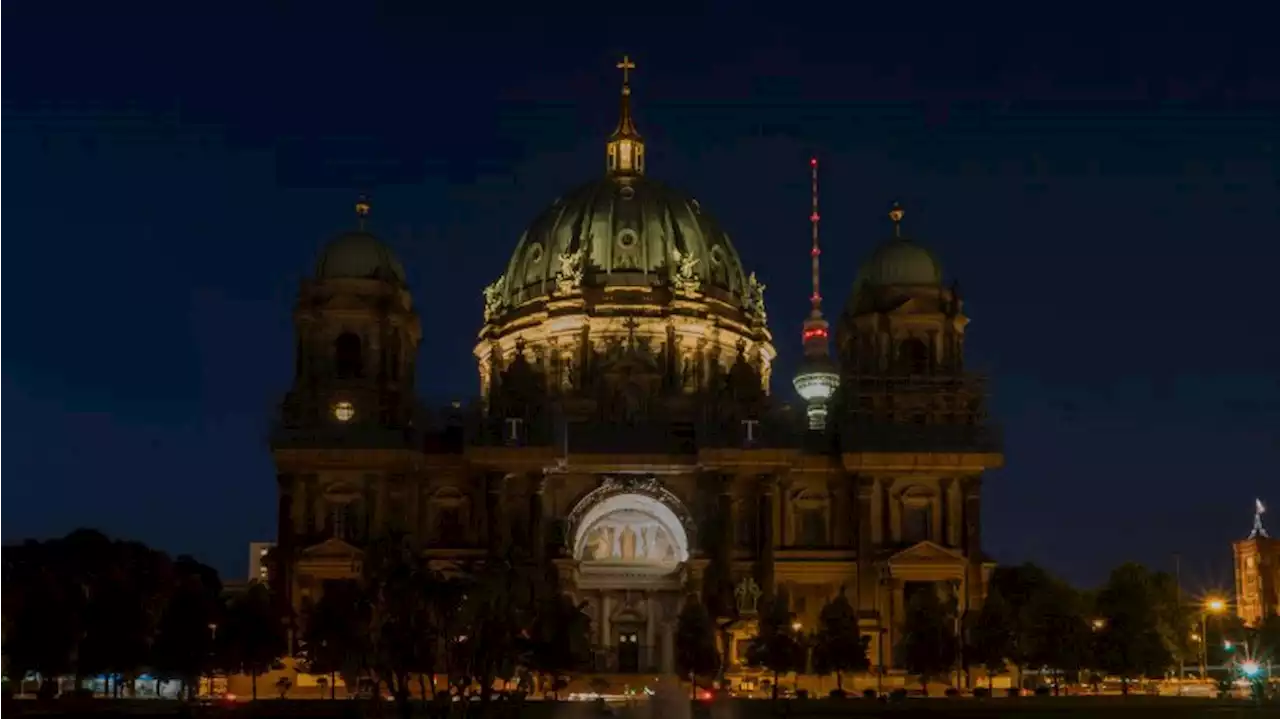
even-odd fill
[{"label": "whole central dome with floodlit golden drum, lantern and cross", "polygon": [[475,354],[485,395],[521,358],[561,395],[599,394],[609,383],[692,394],[722,386],[731,367],[739,376],[750,367],[768,388],[776,352],[764,285],[698,200],[645,177],[626,82],[634,67],[618,64],[621,114],[604,143],[604,177],[539,214],[484,290]]}]

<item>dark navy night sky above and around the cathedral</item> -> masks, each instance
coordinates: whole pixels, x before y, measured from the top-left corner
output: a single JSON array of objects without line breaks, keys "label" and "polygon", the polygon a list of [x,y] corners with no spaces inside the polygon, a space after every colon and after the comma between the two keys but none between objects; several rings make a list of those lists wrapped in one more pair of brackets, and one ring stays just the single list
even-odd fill
[{"label": "dark navy night sky above and around the cathedral", "polygon": [[1280,510],[1262,19],[168,5],[0,0],[0,540],[93,526],[243,576],[274,536],[265,436],[298,280],[357,192],[408,269],[420,394],[472,395],[480,289],[603,171],[623,52],[649,174],[768,285],[776,394],[800,354],[812,154],[828,316],[893,200],[960,279],[1006,431],[984,484],[1000,562],[1094,583],[1180,551],[1189,586],[1229,586],[1253,498]]}]

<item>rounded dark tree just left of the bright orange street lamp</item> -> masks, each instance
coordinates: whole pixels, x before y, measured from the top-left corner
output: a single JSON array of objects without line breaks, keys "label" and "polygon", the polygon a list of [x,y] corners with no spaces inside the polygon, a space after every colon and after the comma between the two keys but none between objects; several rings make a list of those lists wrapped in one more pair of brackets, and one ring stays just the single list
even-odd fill
[{"label": "rounded dark tree just left of the bright orange street lamp", "polygon": [[1120,691],[1129,693],[1129,681],[1158,677],[1174,656],[1161,633],[1160,597],[1151,572],[1138,564],[1123,564],[1111,572],[1098,592],[1097,612],[1103,626],[1096,632],[1096,661],[1121,678]]}]

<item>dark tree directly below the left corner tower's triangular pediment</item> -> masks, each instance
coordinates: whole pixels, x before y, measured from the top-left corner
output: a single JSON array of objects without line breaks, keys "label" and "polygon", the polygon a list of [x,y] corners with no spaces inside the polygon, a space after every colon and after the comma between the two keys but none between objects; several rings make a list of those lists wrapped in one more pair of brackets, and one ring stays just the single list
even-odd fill
[{"label": "dark tree directly below the left corner tower's triangular pediment", "polygon": [[337,677],[358,674],[366,636],[360,615],[361,590],[355,581],[326,582],[320,599],[302,614],[298,659],[311,674],[326,674],[329,699],[337,695]]}]

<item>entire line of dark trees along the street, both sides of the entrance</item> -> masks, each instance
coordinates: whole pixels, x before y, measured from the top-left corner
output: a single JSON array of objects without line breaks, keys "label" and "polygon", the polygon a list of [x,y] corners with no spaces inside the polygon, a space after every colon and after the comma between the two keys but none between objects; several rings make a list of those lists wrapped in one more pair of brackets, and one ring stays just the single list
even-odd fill
[{"label": "entire line of dark trees along the street, both sides of the entrance", "polygon": [[[413,695],[489,701],[512,679],[516,693],[557,696],[570,677],[593,668],[584,605],[562,591],[553,568],[518,554],[442,571],[410,537],[381,537],[366,548],[358,577],[324,582],[300,612],[274,585],[228,595],[218,573],[189,557],[87,530],[0,548],[8,691],[36,676],[37,693],[51,697],[60,677],[77,687],[104,677],[106,692],[122,696],[147,674],[179,682],[192,697],[204,677],[243,674],[256,699],[257,677],[292,656],[330,697],[342,681],[390,696],[407,715]],[[714,686],[724,668],[726,618],[707,606],[690,595],[676,627],[677,670],[692,691],[699,682]],[[872,667],[869,637],[844,591],[810,633],[785,592],[765,599],[756,624],[746,661],[773,676],[774,692],[790,673],[833,674],[842,692],[846,674]],[[1248,629],[1226,614],[1207,619],[1169,574],[1137,564],[1116,568],[1092,591],[1024,564],[996,568],[974,612],[959,612],[947,592],[913,591],[896,640],[884,659],[922,686],[972,669],[1011,672],[1021,684],[1034,670],[1053,690],[1119,677],[1126,691],[1132,681],[1196,664],[1202,650],[1210,665],[1229,661],[1233,646],[1265,658],[1280,644],[1280,622]]]}]

